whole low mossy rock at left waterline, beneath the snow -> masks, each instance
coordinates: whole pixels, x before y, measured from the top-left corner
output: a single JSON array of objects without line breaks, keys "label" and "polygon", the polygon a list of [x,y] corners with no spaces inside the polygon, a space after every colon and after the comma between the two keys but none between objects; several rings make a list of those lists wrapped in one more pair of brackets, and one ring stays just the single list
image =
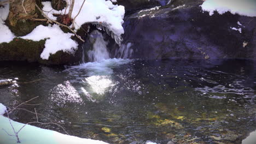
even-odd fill
[{"label": "whole low mossy rock at left waterline, beneath the snow", "polygon": [[14,38],[10,43],[1,43],[0,61],[27,61],[46,65],[77,64],[80,61],[79,50],[74,55],[58,51],[50,55],[48,60],[42,59],[40,55],[44,50],[45,40],[32,41]]}]

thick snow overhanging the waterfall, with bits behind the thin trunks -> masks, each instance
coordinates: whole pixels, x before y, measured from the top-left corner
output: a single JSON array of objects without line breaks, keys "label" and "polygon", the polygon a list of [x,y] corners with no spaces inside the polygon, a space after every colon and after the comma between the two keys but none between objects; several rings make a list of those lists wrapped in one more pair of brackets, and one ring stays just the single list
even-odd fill
[{"label": "thick snow overhanging the waterfall, with bits behind the thin trunks", "polygon": [[[65,14],[65,9],[63,9],[61,12],[57,10],[51,10],[53,9],[51,7],[51,2],[43,2],[42,4],[44,5],[43,10],[49,11],[44,13],[50,17],[53,17],[54,13]],[[75,1],[71,16],[72,18],[74,18],[78,14],[82,4],[83,1]],[[68,9],[69,6],[67,8],[67,11]],[[125,9],[122,5],[114,5],[111,1],[105,0],[86,0],[83,8],[80,11],[80,14],[77,16],[77,18],[75,18],[74,27],[75,30],[77,30],[84,23],[99,23],[103,26],[106,26],[115,35],[120,36],[124,33],[124,28],[122,26],[122,24],[124,23],[124,14]]]}]

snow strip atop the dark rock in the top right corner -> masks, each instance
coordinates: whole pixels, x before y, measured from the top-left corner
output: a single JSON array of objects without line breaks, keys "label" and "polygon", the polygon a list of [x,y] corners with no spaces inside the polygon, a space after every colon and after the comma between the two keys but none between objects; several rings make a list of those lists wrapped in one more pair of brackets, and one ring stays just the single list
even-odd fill
[{"label": "snow strip atop the dark rock in the top right corner", "polygon": [[255,0],[206,0],[201,7],[202,10],[208,11],[210,15],[213,15],[214,11],[219,14],[230,11],[232,14],[256,16]]}]

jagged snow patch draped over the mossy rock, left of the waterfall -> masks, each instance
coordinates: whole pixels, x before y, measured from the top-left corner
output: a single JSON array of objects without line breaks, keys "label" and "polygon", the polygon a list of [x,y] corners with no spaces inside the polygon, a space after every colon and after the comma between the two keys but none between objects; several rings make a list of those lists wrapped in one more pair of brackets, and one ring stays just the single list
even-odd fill
[{"label": "jagged snow patch draped over the mossy rock, left of the waterfall", "polygon": [[[33,41],[39,41],[46,39],[45,48],[41,53],[42,59],[48,59],[50,54],[54,54],[57,51],[63,51],[68,53],[74,53],[78,47],[78,44],[71,39],[72,33],[64,33],[59,25],[43,26],[39,25],[33,29],[33,31],[22,39],[31,39]],[[48,39],[49,38],[49,39]]]}]

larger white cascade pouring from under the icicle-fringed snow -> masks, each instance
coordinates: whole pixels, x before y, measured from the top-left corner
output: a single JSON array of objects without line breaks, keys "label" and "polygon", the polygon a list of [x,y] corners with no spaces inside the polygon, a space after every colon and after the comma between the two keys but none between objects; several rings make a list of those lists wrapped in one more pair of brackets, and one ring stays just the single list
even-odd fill
[{"label": "larger white cascade pouring from under the icicle-fringed snow", "polygon": [[99,31],[93,31],[90,34],[92,39],[93,49],[88,51],[88,58],[90,62],[101,62],[104,59],[109,59],[109,52],[107,49],[107,41],[104,41],[103,35]]}]

